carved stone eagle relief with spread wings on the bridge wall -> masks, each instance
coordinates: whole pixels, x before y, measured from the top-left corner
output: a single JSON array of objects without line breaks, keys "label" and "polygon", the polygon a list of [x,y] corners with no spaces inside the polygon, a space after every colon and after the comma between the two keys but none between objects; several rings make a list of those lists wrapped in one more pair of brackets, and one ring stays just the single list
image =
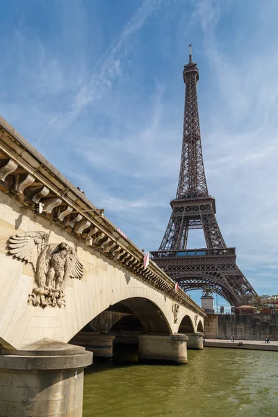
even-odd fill
[{"label": "carved stone eagle relief with spread wings on the bridge wall", "polygon": [[28,301],[34,306],[61,307],[65,305],[67,279],[81,279],[83,265],[76,247],[48,241],[49,234],[42,231],[17,234],[8,240],[8,253],[33,265],[35,286]]}]

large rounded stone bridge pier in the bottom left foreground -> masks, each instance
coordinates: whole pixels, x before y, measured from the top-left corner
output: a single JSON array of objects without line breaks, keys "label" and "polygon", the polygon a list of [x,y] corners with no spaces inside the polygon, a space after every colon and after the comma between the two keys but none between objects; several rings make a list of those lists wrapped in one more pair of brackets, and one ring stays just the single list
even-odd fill
[{"label": "large rounded stone bridge pier in the bottom left foreground", "polygon": [[47,342],[0,354],[1,417],[81,417],[83,370],[92,353]]}]

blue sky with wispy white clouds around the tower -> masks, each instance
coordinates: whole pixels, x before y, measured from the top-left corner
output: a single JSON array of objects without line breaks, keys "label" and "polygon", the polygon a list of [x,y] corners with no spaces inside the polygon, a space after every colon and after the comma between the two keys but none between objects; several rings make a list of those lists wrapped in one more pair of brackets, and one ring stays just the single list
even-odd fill
[{"label": "blue sky with wispy white clouds around the tower", "polygon": [[[2,2],[0,114],[156,250],[177,189],[192,43],[220,229],[256,291],[276,294],[277,15],[277,0]],[[199,231],[190,246],[204,246]]]}]

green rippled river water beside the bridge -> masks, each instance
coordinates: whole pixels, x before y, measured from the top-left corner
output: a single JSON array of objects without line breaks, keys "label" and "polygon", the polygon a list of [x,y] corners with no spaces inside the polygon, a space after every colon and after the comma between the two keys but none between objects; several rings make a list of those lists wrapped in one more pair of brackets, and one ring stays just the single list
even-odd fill
[{"label": "green rippled river water beside the bridge", "polygon": [[83,417],[278,417],[278,352],[206,347],[179,366],[95,363]]}]

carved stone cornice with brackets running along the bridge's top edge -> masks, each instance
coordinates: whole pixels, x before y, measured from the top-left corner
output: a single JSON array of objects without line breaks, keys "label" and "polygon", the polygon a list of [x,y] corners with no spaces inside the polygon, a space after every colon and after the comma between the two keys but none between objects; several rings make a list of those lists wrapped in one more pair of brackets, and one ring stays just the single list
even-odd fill
[{"label": "carved stone cornice with brackets running along the bridge's top edge", "polygon": [[0,116],[0,190],[54,222],[88,247],[97,250],[176,302],[206,316],[174,281],[106,218],[85,195],[63,177],[34,147]]}]

